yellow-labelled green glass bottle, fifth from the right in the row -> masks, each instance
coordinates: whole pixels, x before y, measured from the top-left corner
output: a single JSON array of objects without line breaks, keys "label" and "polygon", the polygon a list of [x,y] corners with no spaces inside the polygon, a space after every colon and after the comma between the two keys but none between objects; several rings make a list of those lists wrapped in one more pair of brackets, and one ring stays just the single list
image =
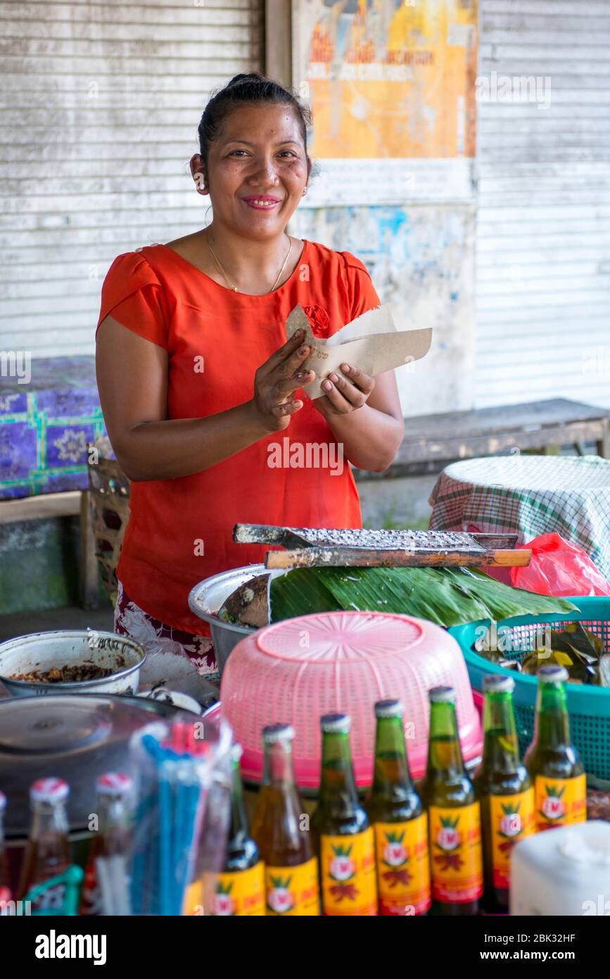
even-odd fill
[{"label": "yellow-labelled green glass bottle, fifth from the right in the row", "polygon": [[312,828],[320,848],[323,911],[377,913],[374,836],[360,804],[349,743],[350,719],[327,714],[322,724],[320,803]]}]

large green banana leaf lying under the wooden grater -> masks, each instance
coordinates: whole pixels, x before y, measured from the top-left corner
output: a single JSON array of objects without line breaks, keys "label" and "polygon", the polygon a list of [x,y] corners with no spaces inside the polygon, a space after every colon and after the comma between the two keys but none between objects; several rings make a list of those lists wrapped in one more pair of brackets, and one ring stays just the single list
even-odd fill
[{"label": "large green banana leaf lying under the wooden grater", "polygon": [[576,606],[511,588],[478,569],[295,568],[272,579],[271,621],[338,609],[389,612],[460,626],[516,615],[562,615]]}]

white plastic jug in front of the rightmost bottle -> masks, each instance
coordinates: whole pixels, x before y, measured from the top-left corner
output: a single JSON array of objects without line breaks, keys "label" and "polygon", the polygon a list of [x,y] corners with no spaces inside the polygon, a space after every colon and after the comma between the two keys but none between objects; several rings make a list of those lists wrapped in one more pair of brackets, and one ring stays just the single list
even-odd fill
[{"label": "white plastic jug in front of the rightmost bottle", "polygon": [[610,822],[546,830],[516,845],[510,913],[610,916]]}]

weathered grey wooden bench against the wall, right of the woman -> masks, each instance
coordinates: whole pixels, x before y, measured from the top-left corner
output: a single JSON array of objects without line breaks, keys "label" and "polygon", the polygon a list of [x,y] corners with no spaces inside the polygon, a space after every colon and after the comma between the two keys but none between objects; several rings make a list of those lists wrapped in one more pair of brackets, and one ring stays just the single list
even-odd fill
[{"label": "weathered grey wooden bench against the wall, right of the woman", "polygon": [[506,404],[472,411],[418,415],[405,421],[405,438],[393,466],[432,472],[456,459],[495,455],[511,448],[542,449],[573,444],[580,454],[594,442],[597,454],[610,458],[610,409],[556,397],[528,404]]}]

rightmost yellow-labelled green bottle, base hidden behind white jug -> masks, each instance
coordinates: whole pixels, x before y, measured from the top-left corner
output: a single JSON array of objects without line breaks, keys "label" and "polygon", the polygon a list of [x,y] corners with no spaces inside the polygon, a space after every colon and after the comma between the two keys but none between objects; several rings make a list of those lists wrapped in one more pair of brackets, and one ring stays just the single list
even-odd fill
[{"label": "rightmost yellow-labelled green bottle, base hidden behind white jug", "polygon": [[567,679],[565,667],[549,664],[538,672],[536,729],[525,764],[534,784],[539,832],[587,819],[587,780],[570,737]]}]

